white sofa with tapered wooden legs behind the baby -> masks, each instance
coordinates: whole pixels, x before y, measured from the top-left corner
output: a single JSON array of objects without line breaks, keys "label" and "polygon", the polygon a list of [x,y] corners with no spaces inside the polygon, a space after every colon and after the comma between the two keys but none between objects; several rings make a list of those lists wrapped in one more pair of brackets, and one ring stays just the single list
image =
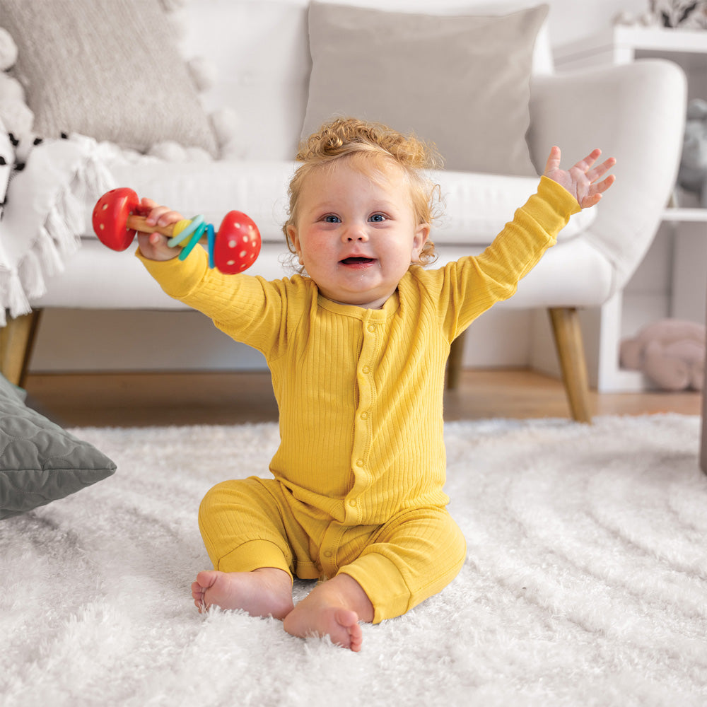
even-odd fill
[{"label": "white sofa with tapered wooden legs behind the baby", "polygon": [[[18,1],[0,0],[0,6]],[[429,6],[431,13],[440,13],[436,4]],[[411,3],[411,8],[419,13],[420,4]],[[269,278],[285,276],[283,256],[287,250],[281,223],[286,185],[296,168],[291,160],[303,124],[312,120],[309,113],[315,90],[307,8],[270,0],[199,0],[178,8],[175,17],[186,28],[180,39],[182,53],[186,57],[206,54],[202,76],[212,67],[216,69],[216,79],[201,100],[218,128],[221,158],[209,160],[203,151],[185,153],[169,145],[152,149],[165,158],[137,156],[102,142],[95,149],[88,148],[90,160],[115,184],[132,187],[140,196],[170,204],[186,215],[201,213],[219,223],[230,209],[246,211],[258,223],[264,240],[262,255],[250,272]],[[339,42],[343,46],[343,35],[334,34],[332,46]],[[315,41],[314,34],[311,41]],[[321,42],[321,37],[317,41]],[[22,52],[21,42],[18,45]],[[527,148],[532,164],[542,171],[553,144],[561,146],[568,165],[600,146],[618,160],[617,182],[600,206],[573,217],[558,245],[522,281],[518,293],[499,306],[539,307],[551,312],[571,412],[575,419],[587,421],[588,381],[577,310],[598,307],[620,291],[653,240],[677,173],[686,89],[678,67],[657,60],[557,75],[552,71],[549,47],[545,23],[532,51],[532,69],[528,69],[532,76],[526,109],[530,117]],[[90,63],[92,57],[82,60]],[[319,69],[324,61],[332,62],[331,56],[320,59]],[[199,62],[192,62],[195,64]],[[316,57],[314,64],[316,68]],[[348,71],[344,73],[341,83],[349,78]],[[458,78],[454,71],[451,74],[440,82],[442,89],[449,91],[457,81],[457,90],[462,95],[468,93],[472,104],[477,91],[483,93],[483,86],[469,88],[461,71]],[[33,107],[31,98],[29,95],[28,103]],[[442,90],[440,95],[433,92],[429,99],[440,124],[455,122],[445,112],[454,103],[448,98]],[[489,103],[484,98],[484,108],[492,106],[494,98],[492,90]],[[42,115],[47,124],[46,115]],[[151,115],[150,110],[144,110],[141,117],[149,122]],[[496,119],[493,114],[491,117]],[[464,115],[457,115],[458,119],[463,124]],[[481,151],[481,146],[493,143],[488,134],[479,134],[477,129],[457,133],[455,139],[469,144],[472,152],[477,144]],[[102,134],[93,137],[104,138]],[[18,204],[32,191],[33,172],[46,173],[42,155],[52,144],[45,141],[30,151],[27,167],[11,180],[0,226],[6,233],[13,228],[33,228],[22,221]],[[537,176],[479,173],[454,164],[434,176],[445,196],[445,215],[433,231],[439,264],[483,250],[537,184]],[[39,285],[25,288],[31,312],[24,311],[19,302],[13,305],[6,300],[11,316],[2,330],[1,366],[10,380],[22,380],[38,312],[44,308],[180,307],[146,276],[132,248],[116,253],[95,239],[89,216],[98,192],[96,185],[92,189],[82,186],[86,193],[81,194],[81,217],[74,219],[72,226],[80,236],[80,247],[64,254],[59,248],[62,262],[54,267],[54,274],[45,272]],[[21,264],[17,269],[22,275]],[[459,367],[457,343],[450,358],[450,385],[455,385]]]}]

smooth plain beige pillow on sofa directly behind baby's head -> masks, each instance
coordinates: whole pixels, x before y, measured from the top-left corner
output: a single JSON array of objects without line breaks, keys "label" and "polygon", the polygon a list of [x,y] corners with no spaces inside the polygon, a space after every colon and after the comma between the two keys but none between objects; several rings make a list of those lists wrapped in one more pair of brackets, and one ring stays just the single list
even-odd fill
[{"label": "smooth plain beige pillow on sofa directly behind baby's head", "polygon": [[547,11],[436,16],[313,2],[303,138],[351,115],[414,131],[450,170],[535,175],[525,134]]}]

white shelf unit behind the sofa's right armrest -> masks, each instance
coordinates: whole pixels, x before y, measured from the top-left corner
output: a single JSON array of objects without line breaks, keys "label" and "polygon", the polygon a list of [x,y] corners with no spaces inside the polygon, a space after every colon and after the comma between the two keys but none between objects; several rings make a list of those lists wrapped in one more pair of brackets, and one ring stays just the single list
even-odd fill
[{"label": "white shelf unit behind the sofa's right armrest", "polygon": [[[558,47],[554,59],[557,71],[561,72],[607,64],[628,64],[648,57],[668,59],[682,66],[688,77],[688,97],[707,99],[705,31],[617,25],[572,45]],[[707,209],[666,208],[660,235],[670,245],[653,257],[665,257],[672,261],[662,264],[670,269],[666,315],[704,322]],[[651,257],[650,253],[648,257]],[[630,285],[626,292],[629,289]],[[648,387],[641,373],[619,367],[619,345],[626,335],[625,322],[633,322],[641,315],[640,311],[630,310],[629,299],[624,297],[624,293],[619,293],[599,312],[585,312],[583,315],[585,338],[589,344],[596,344],[594,350],[588,346],[587,351],[590,382],[601,392],[637,391]],[[650,319],[643,324],[649,322]]]}]

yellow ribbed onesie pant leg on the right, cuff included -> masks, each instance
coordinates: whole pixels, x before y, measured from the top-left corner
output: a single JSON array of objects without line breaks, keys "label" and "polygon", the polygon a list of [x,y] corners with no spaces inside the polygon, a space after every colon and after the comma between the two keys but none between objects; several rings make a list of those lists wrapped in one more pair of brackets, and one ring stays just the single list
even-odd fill
[{"label": "yellow ribbed onesie pant leg on the right, cuff included", "polygon": [[339,573],[361,585],[378,624],[443,590],[459,573],[466,552],[464,535],[447,510],[422,508],[387,522]]}]

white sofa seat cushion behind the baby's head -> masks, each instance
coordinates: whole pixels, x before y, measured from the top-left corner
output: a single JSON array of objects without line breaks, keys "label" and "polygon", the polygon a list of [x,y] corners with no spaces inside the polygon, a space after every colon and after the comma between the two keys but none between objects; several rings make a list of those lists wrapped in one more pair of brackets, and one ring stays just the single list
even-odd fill
[{"label": "white sofa seat cushion behind the baby's head", "polygon": [[[204,214],[216,226],[226,211],[245,211],[257,223],[264,243],[281,243],[286,251],[282,225],[287,219],[287,187],[297,163],[165,163],[150,157],[138,158],[138,163],[134,158],[116,158],[109,165],[116,183],[129,184],[140,196],[168,204],[187,218]],[[448,170],[430,176],[440,185],[445,207],[432,229],[432,239],[438,243],[488,245],[538,184],[538,177]],[[596,218],[597,209],[572,216],[559,240],[581,233]],[[94,237],[88,221],[85,230],[89,238]]]}]

